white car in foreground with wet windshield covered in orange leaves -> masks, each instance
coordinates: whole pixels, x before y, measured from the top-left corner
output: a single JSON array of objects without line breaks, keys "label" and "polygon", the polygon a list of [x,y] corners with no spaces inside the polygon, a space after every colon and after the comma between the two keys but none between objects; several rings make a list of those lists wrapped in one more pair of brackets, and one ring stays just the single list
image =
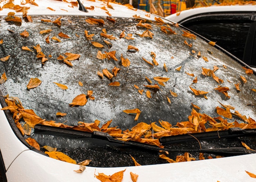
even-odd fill
[{"label": "white car in foreground with wet windshield covered in orange leaves", "polygon": [[129,6],[84,1],[86,13],[76,2],[7,2],[0,4],[11,7],[0,11],[3,181],[254,180],[249,66]]}]

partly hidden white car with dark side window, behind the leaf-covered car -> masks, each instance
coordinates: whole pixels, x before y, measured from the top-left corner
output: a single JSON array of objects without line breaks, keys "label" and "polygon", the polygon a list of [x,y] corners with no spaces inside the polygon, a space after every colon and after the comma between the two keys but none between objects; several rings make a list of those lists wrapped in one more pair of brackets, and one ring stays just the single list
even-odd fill
[{"label": "partly hidden white car with dark side window, behind the leaf-covered car", "polygon": [[256,67],[256,4],[219,4],[169,15],[177,22]]}]

